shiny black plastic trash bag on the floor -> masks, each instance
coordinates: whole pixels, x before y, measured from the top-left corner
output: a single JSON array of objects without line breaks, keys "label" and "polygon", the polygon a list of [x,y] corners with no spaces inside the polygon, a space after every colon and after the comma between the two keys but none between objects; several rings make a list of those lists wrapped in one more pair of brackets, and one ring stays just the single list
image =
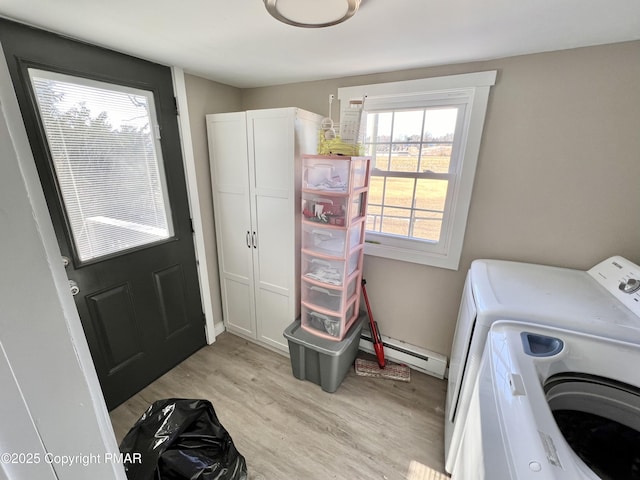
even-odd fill
[{"label": "shiny black plastic trash bag on the floor", "polygon": [[247,479],[245,459],[208,400],[158,400],[129,430],[120,452],[128,480]]}]

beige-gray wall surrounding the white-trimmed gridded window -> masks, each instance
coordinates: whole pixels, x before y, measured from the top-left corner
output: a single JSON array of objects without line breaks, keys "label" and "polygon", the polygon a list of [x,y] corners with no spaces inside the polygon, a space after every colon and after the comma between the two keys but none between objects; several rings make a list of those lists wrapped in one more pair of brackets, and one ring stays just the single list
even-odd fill
[{"label": "beige-gray wall surrounding the white-trimmed gridded window", "polygon": [[627,42],[246,89],[241,109],[297,106],[326,115],[339,87],[498,70],[460,269],[365,257],[382,333],[448,356],[475,258],[587,269],[620,254],[640,263],[638,58],[640,42]]}]

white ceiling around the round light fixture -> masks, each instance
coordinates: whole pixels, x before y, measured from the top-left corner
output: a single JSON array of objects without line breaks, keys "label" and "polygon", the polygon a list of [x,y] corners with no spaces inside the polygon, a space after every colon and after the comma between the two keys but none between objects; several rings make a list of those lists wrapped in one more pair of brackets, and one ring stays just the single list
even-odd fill
[{"label": "white ceiling around the round light fixture", "polygon": [[0,16],[241,88],[640,39],[639,0],[362,0],[324,29],[263,0],[0,0]]}]

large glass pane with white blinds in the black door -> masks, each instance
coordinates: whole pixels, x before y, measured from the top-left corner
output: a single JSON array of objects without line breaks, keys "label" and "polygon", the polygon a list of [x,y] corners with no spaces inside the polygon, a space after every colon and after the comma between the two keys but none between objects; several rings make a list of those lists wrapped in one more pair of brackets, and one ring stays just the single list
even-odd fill
[{"label": "large glass pane with white blinds in the black door", "polygon": [[80,260],[173,236],[153,94],[29,74]]}]

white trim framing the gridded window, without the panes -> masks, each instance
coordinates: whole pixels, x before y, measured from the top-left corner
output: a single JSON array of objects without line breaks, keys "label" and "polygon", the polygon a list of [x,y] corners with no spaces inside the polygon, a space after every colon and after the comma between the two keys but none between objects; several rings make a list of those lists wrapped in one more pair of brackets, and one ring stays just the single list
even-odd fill
[{"label": "white trim framing the gridded window, without the panes", "polygon": [[[462,130],[460,165],[457,181],[451,197],[450,224],[443,225],[440,245],[433,250],[425,250],[424,242],[407,240],[405,246],[385,244],[384,234],[367,233],[364,253],[377,257],[391,258],[405,262],[420,263],[434,267],[457,270],[462,254],[462,245],[467,225],[467,215],[471,204],[473,180],[478,163],[482,130],[487,111],[489,90],[495,85],[497,71],[477,72],[446,77],[434,77],[401,82],[378,83],[343,87],[338,89],[341,105],[350,100],[365,98],[364,109],[398,108],[411,106],[430,98],[463,98],[467,104],[465,123]],[[446,228],[446,231],[445,231]],[[411,247],[411,243],[415,247]],[[390,242],[392,243],[392,242]],[[409,245],[409,246],[407,246]],[[444,248],[443,248],[444,247]]]}]

